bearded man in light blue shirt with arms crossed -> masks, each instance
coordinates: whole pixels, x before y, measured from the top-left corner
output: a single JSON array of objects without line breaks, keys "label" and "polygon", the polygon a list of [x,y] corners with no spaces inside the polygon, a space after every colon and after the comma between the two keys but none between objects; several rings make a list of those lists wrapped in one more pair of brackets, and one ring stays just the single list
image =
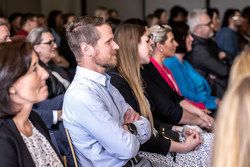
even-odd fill
[{"label": "bearded man in light blue shirt with arms crossed", "polygon": [[115,67],[119,49],[111,27],[102,18],[80,17],[67,26],[66,36],[78,66],[64,97],[62,118],[78,164],[87,167],[137,164],[129,160],[137,155],[140,144],[150,138],[151,128],[149,121],[124,101],[105,74]]}]

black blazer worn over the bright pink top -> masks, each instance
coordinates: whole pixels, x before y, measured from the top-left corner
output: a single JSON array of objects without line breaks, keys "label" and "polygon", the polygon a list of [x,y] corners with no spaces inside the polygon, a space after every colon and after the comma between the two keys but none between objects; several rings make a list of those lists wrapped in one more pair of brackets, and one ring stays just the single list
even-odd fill
[{"label": "black blazer worn over the bright pink top", "polygon": [[173,91],[151,62],[143,66],[141,75],[147,96],[155,107],[153,116],[164,123],[178,124],[183,114],[179,103],[184,97]]}]

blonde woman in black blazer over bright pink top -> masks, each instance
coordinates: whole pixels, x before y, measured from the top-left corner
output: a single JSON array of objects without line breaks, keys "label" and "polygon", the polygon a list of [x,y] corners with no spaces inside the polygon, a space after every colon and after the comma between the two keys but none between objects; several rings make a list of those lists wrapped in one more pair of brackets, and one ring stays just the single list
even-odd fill
[{"label": "blonde woman in black blazer over bright pink top", "polygon": [[147,95],[155,106],[154,117],[169,124],[192,124],[211,130],[213,118],[178,93],[173,76],[169,76],[171,72],[163,66],[163,61],[167,56],[174,55],[178,45],[171,28],[156,25],[149,30],[153,34],[155,48],[151,62],[143,66],[142,78]]}]

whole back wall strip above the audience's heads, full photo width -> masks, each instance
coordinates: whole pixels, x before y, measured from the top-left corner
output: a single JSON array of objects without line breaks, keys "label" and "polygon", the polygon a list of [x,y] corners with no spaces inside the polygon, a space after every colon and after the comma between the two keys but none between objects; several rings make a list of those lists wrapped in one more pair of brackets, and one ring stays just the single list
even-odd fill
[{"label": "whole back wall strip above the audience's heads, full photo width", "polygon": [[[250,0],[210,0],[211,7],[220,10],[220,17],[224,15],[227,8],[242,9],[250,5]],[[86,12],[94,14],[94,9],[99,6],[115,8],[119,11],[122,20],[142,16],[143,0],[86,0]],[[174,5],[185,7],[188,11],[193,8],[204,8],[206,0],[145,0],[145,14],[152,13],[157,8],[167,11]],[[32,12],[48,15],[53,9],[61,10],[63,13],[74,12],[81,15],[81,0],[0,0],[0,12],[9,16],[13,12]]]}]

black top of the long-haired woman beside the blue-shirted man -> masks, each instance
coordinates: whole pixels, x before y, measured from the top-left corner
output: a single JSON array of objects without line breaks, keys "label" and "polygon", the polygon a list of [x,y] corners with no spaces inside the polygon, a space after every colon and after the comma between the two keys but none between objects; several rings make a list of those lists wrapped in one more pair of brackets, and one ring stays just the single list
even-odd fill
[{"label": "black top of the long-haired woman beside the blue-shirted man", "polygon": [[[115,86],[124,97],[125,101],[137,112],[140,113],[139,103],[137,98],[127,83],[127,81],[118,73],[117,68],[107,72],[111,76],[111,84]],[[147,151],[166,155],[169,151],[171,141],[164,138],[151,138],[140,146],[140,151]]]}]

